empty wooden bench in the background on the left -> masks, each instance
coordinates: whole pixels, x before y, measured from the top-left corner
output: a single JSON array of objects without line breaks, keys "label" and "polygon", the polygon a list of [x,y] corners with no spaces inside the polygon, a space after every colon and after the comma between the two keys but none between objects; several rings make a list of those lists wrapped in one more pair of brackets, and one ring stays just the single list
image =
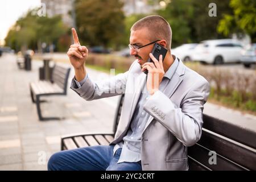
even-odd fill
[{"label": "empty wooden bench in the background on the left", "polygon": [[42,96],[67,95],[67,84],[70,68],[55,64],[53,67],[51,81],[30,82],[30,94],[33,103],[36,103],[38,117],[40,121],[50,119],[61,119],[59,117],[43,117],[40,109]]}]

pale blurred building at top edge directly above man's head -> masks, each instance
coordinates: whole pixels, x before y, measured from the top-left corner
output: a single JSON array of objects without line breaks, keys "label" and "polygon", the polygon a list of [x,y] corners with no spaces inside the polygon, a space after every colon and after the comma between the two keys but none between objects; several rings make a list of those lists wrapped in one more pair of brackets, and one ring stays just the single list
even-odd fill
[{"label": "pale blurred building at top edge directly above man's head", "polygon": [[158,1],[148,0],[122,0],[123,11],[125,15],[131,14],[150,14],[152,11],[159,9],[160,5]]}]

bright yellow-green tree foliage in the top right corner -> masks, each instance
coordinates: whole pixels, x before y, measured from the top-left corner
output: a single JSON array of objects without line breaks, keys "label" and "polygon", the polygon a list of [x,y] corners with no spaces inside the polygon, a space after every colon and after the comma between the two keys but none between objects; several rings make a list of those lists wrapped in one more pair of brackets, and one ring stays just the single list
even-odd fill
[{"label": "bright yellow-green tree foliage in the top right corner", "polygon": [[218,32],[230,34],[248,34],[253,42],[256,41],[256,1],[231,0],[233,12],[225,14],[218,23]]}]

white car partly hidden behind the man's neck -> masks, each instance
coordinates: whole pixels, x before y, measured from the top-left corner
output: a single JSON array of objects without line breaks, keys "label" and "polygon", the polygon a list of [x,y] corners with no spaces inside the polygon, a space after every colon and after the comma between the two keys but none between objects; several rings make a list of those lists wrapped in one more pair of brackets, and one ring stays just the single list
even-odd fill
[{"label": "white car partly hidden behind the man's neck", "polygon": [[183,44],[179,47],[171,49],[172,55],[179,57],[182,61],[191,61],[191,54],[193,49],[197,46],[196,43],[193,44]]}]

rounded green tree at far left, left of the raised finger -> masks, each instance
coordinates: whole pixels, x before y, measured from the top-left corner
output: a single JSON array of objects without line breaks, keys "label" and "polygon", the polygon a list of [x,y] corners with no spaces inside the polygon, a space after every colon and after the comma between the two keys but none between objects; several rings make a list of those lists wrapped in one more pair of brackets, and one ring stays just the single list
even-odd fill
[{"label": "rounded green tree at far left, left of the raised finger", "polygon": [[5,42],[7,46],[16,51],[27,48],[40,49],[40,44],[46,42],[48,45],[57,43],[58,39],[68,30],[63,24],[60,16],[36,15],[38,9],[32,9],[19,18],[8,32]]}]

